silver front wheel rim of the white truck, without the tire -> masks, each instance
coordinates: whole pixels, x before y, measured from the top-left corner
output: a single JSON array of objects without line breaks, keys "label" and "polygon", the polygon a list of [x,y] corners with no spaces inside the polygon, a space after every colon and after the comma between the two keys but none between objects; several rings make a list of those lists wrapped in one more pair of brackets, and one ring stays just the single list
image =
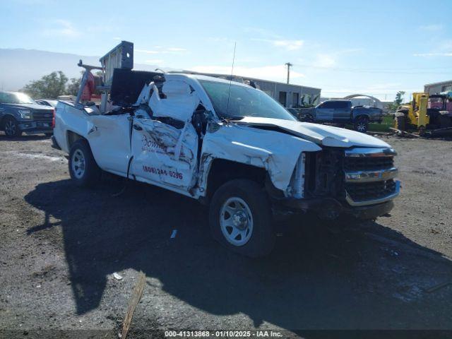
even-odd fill
[{"label": "silver front wheel rim of the white truck, without the tire", "polygon": [[220,210],[220,227],[227,242],[243,246],[253,234],[253,215],[242,198],[227,199]]}]

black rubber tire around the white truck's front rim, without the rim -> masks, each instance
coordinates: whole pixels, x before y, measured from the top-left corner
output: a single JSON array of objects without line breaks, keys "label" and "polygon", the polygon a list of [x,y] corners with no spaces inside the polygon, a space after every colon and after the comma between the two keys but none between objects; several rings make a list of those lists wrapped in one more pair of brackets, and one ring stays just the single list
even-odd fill
[{"label": "black rubber tire around the white truck's front rim, without the rim", "polygon": [[[223,229],[222,222],[220,222],[220,219],[225,215],[224,213],[222,214],[222,208],[226,206],[227,201],[235,198],[242,199],[246,203],[251,212],[252,220],[252,229],[249,232],[249,236],[246,235],[249,239],[245,244],[240,245],[232,244],[223,234],[223,232],[228,232],[229,228],[233,229],[233,227]],[[230,215],[229,218],[233,218],[233,215]],[[270,201],[263,187],[251,180],[234,179],[220,186],[210,203],[209,223],[213,237],[227,249],[231,249],[238,254],[258,258],[268,255],[275,245]],[[244,232],[248,231],[244,230]],[[240,237],[242,239],[242,235]]]}]

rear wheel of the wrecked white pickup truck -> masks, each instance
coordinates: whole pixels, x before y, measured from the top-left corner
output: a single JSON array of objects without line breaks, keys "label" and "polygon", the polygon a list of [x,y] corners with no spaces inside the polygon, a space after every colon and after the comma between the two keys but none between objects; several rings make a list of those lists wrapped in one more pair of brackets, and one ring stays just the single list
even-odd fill
[{"label": "rear wheel of the wrecked white pickup truck", "polygon": [[69,153],[69,174],[77,186],[94,186],[100,180],[102,170],[97,166],[87,141],[73,143]]}]

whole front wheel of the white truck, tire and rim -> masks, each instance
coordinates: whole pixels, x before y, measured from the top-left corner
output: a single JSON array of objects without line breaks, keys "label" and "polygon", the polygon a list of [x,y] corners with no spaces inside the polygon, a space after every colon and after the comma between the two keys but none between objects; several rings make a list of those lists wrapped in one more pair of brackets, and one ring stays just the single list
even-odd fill
[{"label": "whole front wheel of the white truck, tire and rim", "polygon": [[273,249],[271,206],[263,187],[234,179],[214,194],[209,210],[213,237],[228,249],[258,258]]}]

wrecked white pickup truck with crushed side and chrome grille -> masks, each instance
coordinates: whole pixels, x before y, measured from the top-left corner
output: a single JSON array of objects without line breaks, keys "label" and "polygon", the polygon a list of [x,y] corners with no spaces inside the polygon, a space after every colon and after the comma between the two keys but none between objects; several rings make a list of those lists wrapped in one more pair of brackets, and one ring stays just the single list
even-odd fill
[{"label": "wrecked white pickup truck with crushed side and chrome grille", "polygon": [[215,239],[258,257],[280,213],[374,219],[393,208],[395,151],[355,131],[297,121],[266,93],[220,78],[165,73],[132,107],[100,114],[60,101],[54,140],[75,184],[102,171],[210,206]]}]

